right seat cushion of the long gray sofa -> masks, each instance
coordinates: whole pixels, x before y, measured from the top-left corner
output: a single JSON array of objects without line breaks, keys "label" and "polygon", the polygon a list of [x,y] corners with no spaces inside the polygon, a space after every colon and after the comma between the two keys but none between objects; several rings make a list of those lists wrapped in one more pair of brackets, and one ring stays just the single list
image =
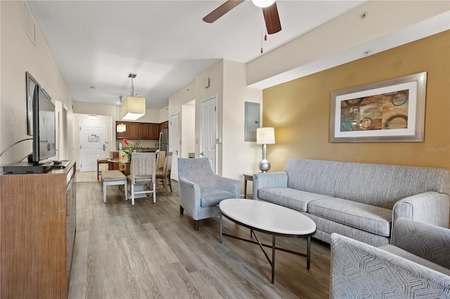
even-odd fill
[{"label": "right seat cushion of the long gray sofa", "polygon": [[308,213],[380,236],[390,237],[392,210],[347,199],[318,199],[308,204]]}]

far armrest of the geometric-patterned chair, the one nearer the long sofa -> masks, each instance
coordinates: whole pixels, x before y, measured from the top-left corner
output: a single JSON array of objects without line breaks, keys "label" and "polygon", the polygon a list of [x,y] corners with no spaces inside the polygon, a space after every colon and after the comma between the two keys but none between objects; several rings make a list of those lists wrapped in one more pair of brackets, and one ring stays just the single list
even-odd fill
[{"label": "far armrest of the geometric-patterned chair, the one nearer the long sofa", "polygon": [[413,255],[450,269],[450,230],[399,218],[392,227],[391,243]]}]

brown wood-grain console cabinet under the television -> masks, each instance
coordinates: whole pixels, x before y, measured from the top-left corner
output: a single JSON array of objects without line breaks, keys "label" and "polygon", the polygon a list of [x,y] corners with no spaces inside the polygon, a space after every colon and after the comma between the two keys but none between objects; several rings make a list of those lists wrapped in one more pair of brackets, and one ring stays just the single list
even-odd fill
[{"label": "brown wood-grain console cabinet under the television", "polygon": [[0,175],[0,297],[67,298],[77,225],[75,162]]}]

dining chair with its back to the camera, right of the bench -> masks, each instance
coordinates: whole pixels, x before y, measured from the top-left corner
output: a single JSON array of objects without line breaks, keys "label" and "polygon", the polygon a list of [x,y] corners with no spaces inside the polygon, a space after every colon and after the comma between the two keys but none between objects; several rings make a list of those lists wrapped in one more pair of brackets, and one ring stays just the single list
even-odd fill
[{"label": "dining chair with its back to the camera, right of the bench", "polygon": [[[128,175],[128,198],[131,197],[131,205],[134,205],[136,194],[153,193],[153,202],[156,202],[155,175],[156,175],[156,154],[153,152],[134,152],[131,153],[130,174]],[[148,184],[150,190],[144,190]],[[136,185],[139,189],[136,189]]]}]

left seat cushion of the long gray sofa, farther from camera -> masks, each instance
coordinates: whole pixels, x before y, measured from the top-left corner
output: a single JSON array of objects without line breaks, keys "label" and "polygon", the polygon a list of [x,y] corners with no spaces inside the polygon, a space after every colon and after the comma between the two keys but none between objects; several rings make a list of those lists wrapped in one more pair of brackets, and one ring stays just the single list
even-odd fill
[{"label": "left seat cushion of the long gray sofa, farther from camera", "polygon": [[274,204],[293,208],[298,211],[306,212],[310,201],[316,199],[332,198],[328,195],[304,192],[290,188],[264,188],[258,190],[259,199],[270,201]]}]

